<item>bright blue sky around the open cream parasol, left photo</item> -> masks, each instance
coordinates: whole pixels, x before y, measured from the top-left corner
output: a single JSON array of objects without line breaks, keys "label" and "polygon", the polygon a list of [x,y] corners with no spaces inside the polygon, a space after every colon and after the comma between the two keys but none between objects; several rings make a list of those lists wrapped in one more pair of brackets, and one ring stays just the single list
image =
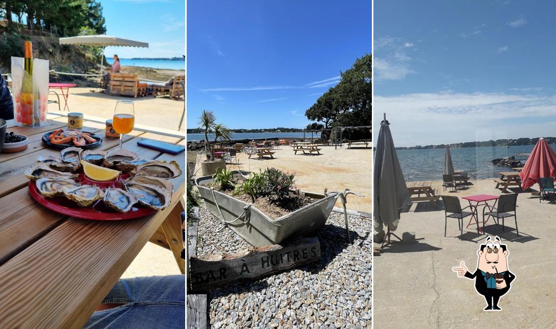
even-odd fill
[{"label": "bright blue sky around the open cream parasol, left photo", "polygon": [[185,1],[108,0],[100,1],[109,36],[148,42],[148,48],[106,47],[113,54],[131,57],[181,57],[185,54]]}]

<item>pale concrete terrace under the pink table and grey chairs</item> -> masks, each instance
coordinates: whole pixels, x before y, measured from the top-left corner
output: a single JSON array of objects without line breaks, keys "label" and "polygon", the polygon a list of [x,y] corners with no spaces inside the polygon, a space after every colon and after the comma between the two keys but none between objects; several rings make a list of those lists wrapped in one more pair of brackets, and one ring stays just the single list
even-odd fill
[{"label": "pale concrete terrace under the pink table and grey chairs", "polygon": [[[500,195],[492,180],[472,181],[473,186],[457,192],[443,192],[441,182],[433,186],[441,193],[463,196]],[[533,186],[537,189],[538,186]],[[479,245],[486,235],[476,226],[464,228],[459,239],[457,220],[449,218],[444,237],[444,210],[429,202],[416,202],[401,213],[398,230],[415,232],[418,242],[395,243],[374,257],[374,325],[376,328],[548,328],[556,326],[556,203],[543,201],[530,192],[518,192],[518,227],[513,218],[505,221],[503,243],[508,247],[509,270],[516,278],[510,291],[500,298],[502,311],[485,312],[484,297],[475,292],[474,281],[459,278],[451,270],[461,261],[470,272],[476,269]],[[490,202],[492,203],[492,201]],[[482,212],[482,207],[478,208]],[[481,218],[481,217],[480,217]],[[451,220],[450,220],[451,219]],[[469,217],[465,220],[465,226]],[[493,220],[485,232],[498,234]],[[375,243],[375,248],[380,247]]]}]

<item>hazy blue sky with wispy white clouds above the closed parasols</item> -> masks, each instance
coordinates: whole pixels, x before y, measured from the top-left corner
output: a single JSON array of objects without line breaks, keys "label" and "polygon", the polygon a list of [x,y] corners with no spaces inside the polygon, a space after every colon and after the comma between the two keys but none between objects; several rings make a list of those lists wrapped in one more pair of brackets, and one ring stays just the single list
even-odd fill
[{"label": "hazy blue sky with wispy white clouds above the closed parasols", "polygon": [[375,2],[375,123],[387,113],[396,146],[556,136],[555,12],[553,1]]}]

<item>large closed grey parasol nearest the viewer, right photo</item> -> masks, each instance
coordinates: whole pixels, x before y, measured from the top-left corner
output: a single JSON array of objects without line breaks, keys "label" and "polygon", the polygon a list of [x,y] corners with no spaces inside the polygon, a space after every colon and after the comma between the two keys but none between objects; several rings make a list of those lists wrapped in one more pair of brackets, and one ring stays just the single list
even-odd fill
[{"label": "large closed grey parasol nearest the viewer, right photo", "polygon": [[375,241],[378,242],[385,237],[383,225],[388,225],[390,231],[395,231],[398,228],[401,208],[411,205],[389,125],[385,114],[384,121],[380,122],[375,147],[373,218]]}]

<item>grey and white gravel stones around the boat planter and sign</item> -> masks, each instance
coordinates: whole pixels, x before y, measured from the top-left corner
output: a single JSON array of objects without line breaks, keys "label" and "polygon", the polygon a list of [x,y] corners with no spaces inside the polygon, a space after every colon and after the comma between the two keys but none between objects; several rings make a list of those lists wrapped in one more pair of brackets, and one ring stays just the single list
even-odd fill
[{"label": "grey and white gravel stones around the boat planter and sign", "polygon": [[[371,327],[372,221],[332,212],[319,233],[321,259],[257,281],[217,288],[208,294],[214,328]],[[200,207],[197,255],[249,248],[230,228]]]}]

